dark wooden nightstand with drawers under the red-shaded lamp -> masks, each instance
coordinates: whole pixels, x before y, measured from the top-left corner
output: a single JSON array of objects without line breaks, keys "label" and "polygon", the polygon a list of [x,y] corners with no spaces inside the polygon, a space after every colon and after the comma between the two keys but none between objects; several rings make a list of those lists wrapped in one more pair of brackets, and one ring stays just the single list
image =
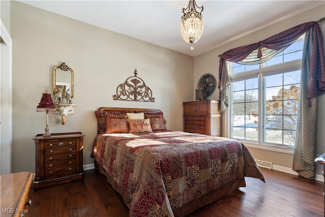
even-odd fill
[{"label": "dark wooden nightstand with drawers under the red-shaded lamp", "polygon": [[36,135],[34,188],[44,188],[84,178],[83,138],[80,132]]}]

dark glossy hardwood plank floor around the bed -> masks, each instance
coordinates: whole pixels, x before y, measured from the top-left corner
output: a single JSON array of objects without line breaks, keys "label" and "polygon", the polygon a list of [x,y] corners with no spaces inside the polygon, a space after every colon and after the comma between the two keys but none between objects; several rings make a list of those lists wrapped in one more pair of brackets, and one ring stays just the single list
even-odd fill
[{"label": "dark glossy hardwood plank floor around the bed", "polygon": [[[246,188],[189,216],[323,216],[324,183],[261,168],[266,183],[246,178]],[[29,216],[128,216],[121,196],[95,170],[83,181],[45,189],[31,188]]]}]

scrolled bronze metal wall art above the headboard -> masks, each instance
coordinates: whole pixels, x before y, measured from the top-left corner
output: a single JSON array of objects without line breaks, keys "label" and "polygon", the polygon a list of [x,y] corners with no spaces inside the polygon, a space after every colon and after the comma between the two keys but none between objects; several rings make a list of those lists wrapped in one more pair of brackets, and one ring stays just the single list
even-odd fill
[{"label": "scrolled bronze metal wall art above the headboard", "polygon": [[137,74],[135,69],[134,76],[128,77],[124,83],[117,86],[113,100],[154,102],[151,89]]}]

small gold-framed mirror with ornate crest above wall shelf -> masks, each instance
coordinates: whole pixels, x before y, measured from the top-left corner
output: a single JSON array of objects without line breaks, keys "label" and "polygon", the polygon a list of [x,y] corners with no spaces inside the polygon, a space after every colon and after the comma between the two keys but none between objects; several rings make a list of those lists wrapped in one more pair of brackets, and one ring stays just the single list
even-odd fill
[{"label": "small gold-framed mirror with ornate crest above wall shelf", "polygon": [[[73,98],[73,82],[73,70],[68,67],[66,63],[62,63],[60,66],[56,66],[53,69],[53,94],[55,98],[54,104],[71,104],[71,98]],[[57,97],[57,95],[59,97]]]}]

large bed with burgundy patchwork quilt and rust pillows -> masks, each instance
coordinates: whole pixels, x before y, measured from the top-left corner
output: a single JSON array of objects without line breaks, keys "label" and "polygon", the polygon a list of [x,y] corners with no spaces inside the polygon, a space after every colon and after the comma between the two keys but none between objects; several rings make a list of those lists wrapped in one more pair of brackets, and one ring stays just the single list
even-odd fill
[{"label": "large bed with burgundy patchwork quilt and rust pillows", "polygon": [[[159,109],[101,107],[91,157],[129,216],[186,216],[261,179],[239,141],[170,131]],[[149,126],[148,126],[149,125]]]}]

